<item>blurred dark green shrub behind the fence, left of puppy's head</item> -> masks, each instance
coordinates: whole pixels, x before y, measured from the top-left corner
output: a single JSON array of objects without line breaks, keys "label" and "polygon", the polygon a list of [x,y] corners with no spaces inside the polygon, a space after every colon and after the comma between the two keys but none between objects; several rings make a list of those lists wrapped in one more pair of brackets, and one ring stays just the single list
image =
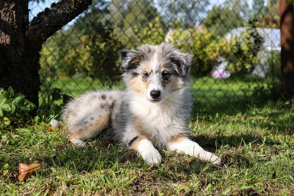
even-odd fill
[{"label": "blurred dark green shrub behind the fence, left of puppy's head", "polygon": [[41,51],[43,78],[82,74],[99,79],[119,75],[118,50],[123,46],[113,29],[96,24],[91,32],[61,31],[52,36]]}]

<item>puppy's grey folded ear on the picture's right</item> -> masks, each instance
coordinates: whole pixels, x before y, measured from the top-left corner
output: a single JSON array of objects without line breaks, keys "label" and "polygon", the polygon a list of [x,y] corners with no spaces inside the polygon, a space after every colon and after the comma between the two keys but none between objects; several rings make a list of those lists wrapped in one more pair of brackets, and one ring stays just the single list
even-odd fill
[{"label": "puppy's grey folded ear on the picture's right", "polygon": [[190,53],[177,51],[172,55],[172,64],[175,66],[175,71],[180,77],[186,77],[192,61],[193,55]]}]

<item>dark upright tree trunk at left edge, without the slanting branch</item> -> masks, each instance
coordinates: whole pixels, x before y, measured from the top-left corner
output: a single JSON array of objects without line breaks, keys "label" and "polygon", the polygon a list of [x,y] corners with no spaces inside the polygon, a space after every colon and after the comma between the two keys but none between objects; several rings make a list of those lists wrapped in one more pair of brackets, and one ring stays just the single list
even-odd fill
[{"label": "dark upright tree trunk at left edge, without the slanting branch", "polygon": [[11,86],[15,92],[38,104],[40,79],[39,51],[25,38],[28,26],[28,1],[0,2],[0,87]]}]

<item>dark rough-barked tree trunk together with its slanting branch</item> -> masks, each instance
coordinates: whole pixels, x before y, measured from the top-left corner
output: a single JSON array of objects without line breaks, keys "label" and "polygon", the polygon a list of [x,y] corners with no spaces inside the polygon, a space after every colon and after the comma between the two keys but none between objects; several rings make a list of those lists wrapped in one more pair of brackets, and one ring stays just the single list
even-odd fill
[{"label": "dark rough-barked tree trunk together with its slanting branch", "polygon": [[59,0],[28,21],[29,0],[0,0],[0,87],[11,86],[38,107],[42,44],[92,0]]}]

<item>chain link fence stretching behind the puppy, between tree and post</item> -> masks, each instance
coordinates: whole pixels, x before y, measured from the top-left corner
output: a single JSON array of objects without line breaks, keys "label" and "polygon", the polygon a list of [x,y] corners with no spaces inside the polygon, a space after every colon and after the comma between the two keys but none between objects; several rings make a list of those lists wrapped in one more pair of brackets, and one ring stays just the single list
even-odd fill
[{"label": "chain link fence stretching behind the puppy, between tree and post", "polygon": [[[30,1],[30,19],[57,0]],[[198,105],[254,99],[280,79],[278,0],[93,0],[41,51],[40,111],[90,89],[123,89],[119,49],[173,43],[194,54]]]}]

